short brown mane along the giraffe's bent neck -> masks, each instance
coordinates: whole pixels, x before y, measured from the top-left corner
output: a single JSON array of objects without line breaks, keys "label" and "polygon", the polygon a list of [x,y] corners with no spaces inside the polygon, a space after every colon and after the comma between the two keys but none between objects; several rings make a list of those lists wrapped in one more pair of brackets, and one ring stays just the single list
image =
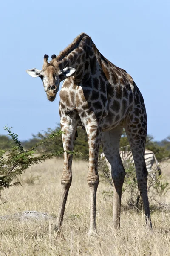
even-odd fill
[{"label": "short brown mane along the giraffe's bent neck", "polygon": [[[66,47],[63,51],[59,53],[59,55],[57,56],[57,61],[61,61],[62,58],[65,57],[65,55],[68,55],[68,53],[70,53],[73,49],[75,49],[79,44],[79,41],[81,41],[84,36],[88,36],[88,35],[85,33],[81,33],[80,35],[78,35],[77,38],[75,38],[74,41],[68,45],[68,47]],[[91,38],[90,36],[88,37]]]}]

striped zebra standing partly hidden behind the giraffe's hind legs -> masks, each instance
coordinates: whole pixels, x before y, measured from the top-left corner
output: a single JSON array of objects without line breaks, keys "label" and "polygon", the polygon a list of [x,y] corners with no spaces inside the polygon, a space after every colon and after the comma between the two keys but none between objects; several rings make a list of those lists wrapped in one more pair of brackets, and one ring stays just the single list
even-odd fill
[{"label": "striped zebra standing partly hidden behind the giraffe's hind legs", "polygon": [[[121,157],[121,160],[122,160],[122,163],[123,163],[124,167],[127,163],[134,166],[135,163],[134,163],[134,160],[133,160],[132,151],[123,151],[120,148],[119,153],[120,153],[120,157]],[[105,159],[105,154],[101,153],[100,157],[101,157],[102,160]],[[145,158],[145,162],[146,162],[147,171],[152,172],[152,166],[155,163],[156,164],[156,171],[158,171],[158,175],[160,176],[161,175],[161,168],[159,167],[159,162],[156,159],[156,156],[153,153],[153,151],[145,149],[144,158]]]}]

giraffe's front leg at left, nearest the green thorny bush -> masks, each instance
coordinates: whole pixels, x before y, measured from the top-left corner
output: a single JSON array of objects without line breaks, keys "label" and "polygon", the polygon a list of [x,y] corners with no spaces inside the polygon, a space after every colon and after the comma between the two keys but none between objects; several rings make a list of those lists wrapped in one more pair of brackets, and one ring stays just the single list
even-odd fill
[{"label": "giraffe's front leg at left, nearest the green thorny bush", "polygon": [[56,230],[59,230],[62,226],[62,221],[64,217],[64,211],[65,211],[65,204],[67,201],[68,191],[71,186],[72,181],[72,159],[73,155],[69,154],[67,151],[72,151],[74,148],[74,140],[75,140],[75,134],[77,131],[77,127],[73,125],[63,124],[61,123],[61,129],[64,131],[62,134],[62,142],[63,142],[63,148],[64,148],[64,166],[63,166],[63,172],[62,172],[62,178],[61,178],[61,198],[59,203],[59,211],[58,211],[58,217],[57,217],[57,224],[56,224]]}]

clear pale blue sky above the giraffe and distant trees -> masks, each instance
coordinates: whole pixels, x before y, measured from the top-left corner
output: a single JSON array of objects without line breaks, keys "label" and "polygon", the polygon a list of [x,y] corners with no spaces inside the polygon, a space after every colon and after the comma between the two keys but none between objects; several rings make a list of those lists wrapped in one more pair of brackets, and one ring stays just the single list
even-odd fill
[{"label": "clear pale blue sky above the giraffe and distant trees", "polygon": [[42,81],[26,69],[42,69],[44,54],[58,55],[85,32],[133,77],[145,100],[148,134],[170,135],[169,0],[8,0],[0,10],[0,134],[6,124],[20,140],[55,128],[59,93],[49,102]]}]

